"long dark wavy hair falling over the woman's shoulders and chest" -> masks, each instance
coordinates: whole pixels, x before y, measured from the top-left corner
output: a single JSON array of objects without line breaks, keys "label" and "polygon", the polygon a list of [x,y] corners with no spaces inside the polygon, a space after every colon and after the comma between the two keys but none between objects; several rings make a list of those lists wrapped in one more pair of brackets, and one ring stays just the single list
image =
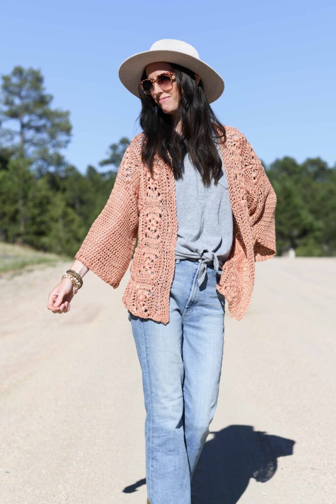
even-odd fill
[{"label": "long dark wavy hair falling over the woman's shoulders and chest", "polygon": [[[139,83],[142,110],[137,120],[140,118],[140,125],[145,133],[142,161],[153,175],[154,156],[159,155],[171,166],[175,179],[179,179],[182,176],[183,158],[188,152],[204,185],[209,186],[212,178],[217,184],[222,161],[214,144],[214,138],[219,139],[219,142],[226,141],[224,125],[211,108],[201,80],[197,85],[192,71],[173,63],[171,66],[180,96],[175,120],[170,114],[161,110],[151,95],[143,92]],[[146,78],[145,69],[141,80]],[[181,135],[175,131],[180,120]]]}]

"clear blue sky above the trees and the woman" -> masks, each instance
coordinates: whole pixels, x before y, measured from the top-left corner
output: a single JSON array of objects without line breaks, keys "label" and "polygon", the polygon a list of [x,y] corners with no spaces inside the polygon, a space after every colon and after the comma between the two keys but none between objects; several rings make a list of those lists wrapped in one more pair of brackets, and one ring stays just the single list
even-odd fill
[{"label": "clear blue sky above the trees and the woman", "polygon": [[[140,99],[120,64],[163,38],[193,45],[224,79],[211,104],[267,165],[292,156],[336,162],[334,2],[8,0],[0,9],[0,74],[40,69],[52,107],[70,110],[66,159],[98,168],[108,146],[141,131]],[[102,168],[102,171],[105,168]]]}]

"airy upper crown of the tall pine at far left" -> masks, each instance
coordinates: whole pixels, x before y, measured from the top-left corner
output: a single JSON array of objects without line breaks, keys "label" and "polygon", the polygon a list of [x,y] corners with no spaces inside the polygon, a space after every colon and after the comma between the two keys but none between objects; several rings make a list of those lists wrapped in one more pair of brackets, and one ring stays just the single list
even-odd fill
[{"label": "airy upper crown of the tall pine at far left", "polygon": [[[39,174],[57,166],[58,151],[70,141],[69,111],[50,107],[53,97],[45,92],[39,70],[16,66],[2,81],[0,141],[10,145],[16,157],[30,157]],[[5,128],[7,122],[15,128]]]}]

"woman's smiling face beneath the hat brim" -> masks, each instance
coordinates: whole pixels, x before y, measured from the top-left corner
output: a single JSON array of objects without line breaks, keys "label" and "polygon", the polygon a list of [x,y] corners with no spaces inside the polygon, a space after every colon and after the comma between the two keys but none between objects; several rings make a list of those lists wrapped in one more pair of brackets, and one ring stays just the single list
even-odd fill
[{"label": "woman's smiling face beneath the hat brim", "polygon": [[[164,72],[174,72],[173,67],[166,61],[158,61],[146,66],[146,75],[148,79],[156,79],[158,75]],[[175,76],[172,76],[172,84],[173,86],[169,91],[163,91],[156,82],[151,95],[153,100],[165,114],[174,116],[179,102],[179,92]]]}]

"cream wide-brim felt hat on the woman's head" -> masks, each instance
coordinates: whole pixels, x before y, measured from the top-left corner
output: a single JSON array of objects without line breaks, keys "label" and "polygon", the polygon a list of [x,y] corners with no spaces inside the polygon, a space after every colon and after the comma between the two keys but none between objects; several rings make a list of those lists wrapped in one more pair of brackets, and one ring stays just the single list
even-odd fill
[{"label": "cream wide-brim felt hat on the woman's head", "polygon": [[125,59],[119,67],[120,81],[128,91],[140,98],[138,86],[145,67],[156,61],[176,63],[198,74],[209,103],[217,100],[224,91],[222,77],[200,59],[196,49],[187,42],[172,38],[157,40],[149,51],[138,52]]}]

